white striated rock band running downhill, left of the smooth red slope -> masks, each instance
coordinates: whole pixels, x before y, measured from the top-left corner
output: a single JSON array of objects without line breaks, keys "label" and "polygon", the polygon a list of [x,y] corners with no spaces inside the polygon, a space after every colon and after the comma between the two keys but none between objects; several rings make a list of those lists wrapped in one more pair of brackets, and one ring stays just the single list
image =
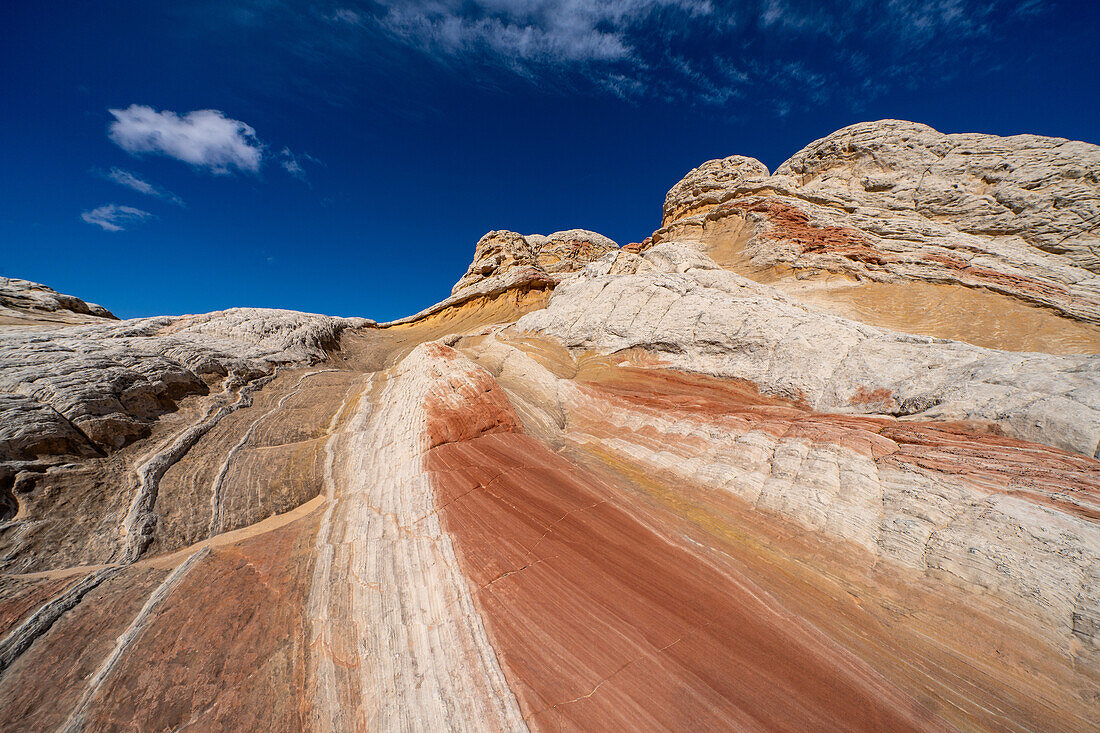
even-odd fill
[{"label": "white striated rock band running downhill, left of the smooth red slope", "polygon": [[418,347],[333,438],[308,605],[318,730],[527,729],[424,469],[424,401],[447,368]]}]

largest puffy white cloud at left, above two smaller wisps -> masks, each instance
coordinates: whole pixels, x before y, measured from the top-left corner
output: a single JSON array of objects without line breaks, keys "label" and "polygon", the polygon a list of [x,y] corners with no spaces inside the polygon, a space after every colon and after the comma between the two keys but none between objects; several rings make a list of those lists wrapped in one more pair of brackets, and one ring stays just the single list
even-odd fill
[{"label": "largest puffy white cloud at left, above two smaller wisps", "polygon": [[216,109],[177,114],[131,105],[109,111],[114,121],[108,136],[128,153],[167,155],[215,174],[260,171],[264,145],[256,131]]}]

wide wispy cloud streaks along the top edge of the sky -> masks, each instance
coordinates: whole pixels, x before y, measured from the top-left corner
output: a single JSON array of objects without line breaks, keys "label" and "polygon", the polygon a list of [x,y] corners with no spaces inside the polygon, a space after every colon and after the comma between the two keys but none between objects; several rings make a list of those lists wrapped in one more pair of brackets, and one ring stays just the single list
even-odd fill
[{"label": "wide wispy cloud streaks along the top edge of the sky", "polygon": [[[356,30],[448,66],[623,99],[781,112],[980,68],[981,43],[1044,0],[344,0]],[[921,58],[914,68],[914,58]],[[858,103],[858,102],[854,102]]]}]

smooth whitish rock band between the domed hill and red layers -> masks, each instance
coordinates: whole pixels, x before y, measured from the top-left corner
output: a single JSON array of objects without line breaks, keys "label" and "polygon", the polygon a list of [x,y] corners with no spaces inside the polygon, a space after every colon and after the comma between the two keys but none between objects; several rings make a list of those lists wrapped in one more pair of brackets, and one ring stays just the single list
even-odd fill
[{"label": "smooth whitish rock band between the domed hill and red layers", "polygon": [[679,369],[747,380],[817,411],[980,422],[1090,457],[1100,446],[1100,357],[882,331],[724,271],[692,245],[651,249],[644,262],[656,266],[637,274],[601,274],[610,259],[517,328],[570,348],[661,352]]}]

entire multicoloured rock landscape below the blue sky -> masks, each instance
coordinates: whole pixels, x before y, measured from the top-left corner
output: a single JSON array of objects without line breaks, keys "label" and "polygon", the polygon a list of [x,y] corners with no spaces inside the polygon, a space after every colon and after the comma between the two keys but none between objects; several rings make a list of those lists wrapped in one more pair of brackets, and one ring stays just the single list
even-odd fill
[{"label": "entire multicoloured rock landscape below the blue sky", "polygon": [[0,727],[1096,730],[1094,151],[856,125],[391,324],[7,300]]}]

